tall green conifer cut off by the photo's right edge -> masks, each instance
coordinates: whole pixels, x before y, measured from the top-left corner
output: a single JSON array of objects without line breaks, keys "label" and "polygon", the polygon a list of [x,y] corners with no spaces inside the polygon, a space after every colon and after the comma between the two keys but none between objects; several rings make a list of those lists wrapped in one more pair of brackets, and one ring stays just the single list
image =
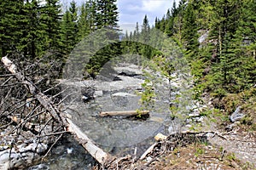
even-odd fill
[{"label": "tall green conifer cut off by the photo's right edge", "polygon": [[239,26],[231,41],[236,61],[233,68],[236,91],[250,88],[256,82],[256,14],[253,12],[255,7],[255,3],[250,0],[241,3]]}]

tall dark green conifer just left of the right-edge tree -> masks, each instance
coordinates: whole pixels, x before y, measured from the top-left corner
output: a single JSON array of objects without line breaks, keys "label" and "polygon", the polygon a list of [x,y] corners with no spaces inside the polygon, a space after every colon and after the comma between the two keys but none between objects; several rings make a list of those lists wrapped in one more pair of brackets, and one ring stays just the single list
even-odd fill
[{"label": "tall dark green conifer just left of the right-edge tree", "polygon": [[[215,40],[215,49],[212,59],[212,77],[209,82],[218,95],[236,90],[236,67],[240,57],[236,56],[235,38],[241,17],[241,2],[222,0],[214,4],[218,13],[218,22],[212,25],[210,38]],[[236,45],[235,45],[236,44]],[[238,57],[238,58],[237,58]]]}]

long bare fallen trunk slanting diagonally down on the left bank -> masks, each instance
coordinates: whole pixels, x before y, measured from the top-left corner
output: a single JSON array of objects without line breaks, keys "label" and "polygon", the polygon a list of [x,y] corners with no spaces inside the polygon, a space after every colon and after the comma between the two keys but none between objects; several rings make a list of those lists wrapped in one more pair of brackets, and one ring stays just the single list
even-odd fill
[{"label": "long bare fallen trunk slanting diagonally down on the left bank", "polygon": [[4,67],[13,74],[19,82],[22,82],[30,93],[38,99],[38,102],[44,107],[46,111],[49,111],[50,115],[55,119],[56,122],[60,122],[64,128],[69,133],[73,134],[73,138],[76,139],[79,144],[82,144],[84,149],[87,150],[91,156],[93,156],[96,161],[102,165],[112,156],[103,151],[101,148],[96,146],[92,140],[90,140],[86,134],[84,134],[79,127],[77,127],[66,114],[62,113],[61,110],[53,105],[51,99],[44,93],[40,92],[38,88],[25,77],[23,74],[17,71],[16,65],[8,59],[7,56],[1,59]]}]

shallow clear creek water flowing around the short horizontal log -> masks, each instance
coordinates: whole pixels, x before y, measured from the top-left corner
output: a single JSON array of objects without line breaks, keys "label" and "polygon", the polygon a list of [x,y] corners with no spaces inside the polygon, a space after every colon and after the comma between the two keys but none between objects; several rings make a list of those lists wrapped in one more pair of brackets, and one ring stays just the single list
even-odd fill
[{"label": "shallow clear creek water flowing around the short horizontal log", "polygon": [[[96,98],[89,102],[77,101],[69,105],[67,113],[73,122],[110,154],[124,156],[134,154],[141,156],[148,146],[154,143],[157,133],[172,133],[180,125],[172,121],[170,111],[169,84],[166,80],[154,83],[154,102],[142,105],[140,101],[143,92],[141,84],[146,77],[142,71],[132,65],[119,67],[120,70],[134,71],[133,75],[119,74],[116,81],[95,81]],[[148,117],[100,117],[101,111],[136,111],[148,109]],[[30,169],[90,169],[95,161],[84,153],[84,149],[73,139],[66,138],[57,144],[49,156],[41,164]]]}]

